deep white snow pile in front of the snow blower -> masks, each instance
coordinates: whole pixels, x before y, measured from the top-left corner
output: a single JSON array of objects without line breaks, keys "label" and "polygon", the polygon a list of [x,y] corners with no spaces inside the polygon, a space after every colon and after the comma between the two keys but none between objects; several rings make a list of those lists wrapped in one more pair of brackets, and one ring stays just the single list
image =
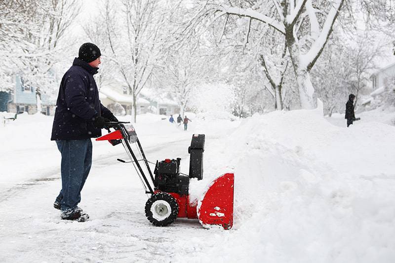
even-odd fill
[{"label": "deep white snow pile in front of the snow blower", "polygon": [[205,176],[235,173],[235,225],[199,257],[393,262],[394,148],[382,123],[343,128],[303,110],[246,119],[205,151]]}]

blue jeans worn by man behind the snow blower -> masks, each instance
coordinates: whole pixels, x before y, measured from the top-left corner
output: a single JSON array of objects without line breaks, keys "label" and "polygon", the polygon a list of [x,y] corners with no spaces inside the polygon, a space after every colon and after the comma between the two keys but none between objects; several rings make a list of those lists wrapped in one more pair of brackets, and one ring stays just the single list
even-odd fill
[{"label": "blue jeans worn by man behind the snow blower", "polygon": [[62,189],[56,201],[61,210],[77,207],[81,201],[81,190],[92,165],[92,142],[90,139],[56,141],[62,154]]}]

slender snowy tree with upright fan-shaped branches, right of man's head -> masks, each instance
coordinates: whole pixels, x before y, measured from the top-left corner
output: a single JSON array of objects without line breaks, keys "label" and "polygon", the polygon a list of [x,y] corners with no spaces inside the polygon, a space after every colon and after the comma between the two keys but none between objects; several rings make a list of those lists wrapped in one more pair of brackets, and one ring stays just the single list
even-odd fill
[{"label": "slender snowy tree with upright fan-shaped branches, right of man's head", "polygon": [[133,98],[134,122],[137,96],[166,55],[170,15],[171,10],[157,0],[107,0],[103,20],[97,20],[106,32],[106,59],[116,65],[125,92]]}]

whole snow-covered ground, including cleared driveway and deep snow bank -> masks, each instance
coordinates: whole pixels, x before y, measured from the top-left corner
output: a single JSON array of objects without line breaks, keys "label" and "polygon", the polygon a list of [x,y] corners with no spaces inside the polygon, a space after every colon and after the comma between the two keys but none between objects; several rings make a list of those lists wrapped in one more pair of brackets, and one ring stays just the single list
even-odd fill
[{"label": "whole snow-covered ground, including cleared driveway and deep snow bank", "polygon": [[206,134],[204,180],[191,182],[191,191],[235,173],[228,231],[193,220],[151,225],[139,179],[116,161],[123,148],[107,142],[94,142],[82,191],[91,220],[59,220],[52,117],[18,115],[0,126],[0,262],[394,262],[395,127],[368,114],[376,113],[360,114],[351,128],[317,111],[241,121],[188,114],[187,132],[139,115],[147,157],[181,157],[183,172],[192,133]]}]

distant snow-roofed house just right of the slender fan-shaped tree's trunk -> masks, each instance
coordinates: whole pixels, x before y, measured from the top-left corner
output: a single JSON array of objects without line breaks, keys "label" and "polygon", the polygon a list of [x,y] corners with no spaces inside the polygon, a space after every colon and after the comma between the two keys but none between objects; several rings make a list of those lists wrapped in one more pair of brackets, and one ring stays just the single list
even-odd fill
[{"label": "distant snow-roofed house just right of the slender fan-shaped tree's trunk", "polygon": [[180,107],[168,93],[155,93],[152,89],[142,89],[140,97],[150,102],[153,113],[171,115],[180,113]]}]

